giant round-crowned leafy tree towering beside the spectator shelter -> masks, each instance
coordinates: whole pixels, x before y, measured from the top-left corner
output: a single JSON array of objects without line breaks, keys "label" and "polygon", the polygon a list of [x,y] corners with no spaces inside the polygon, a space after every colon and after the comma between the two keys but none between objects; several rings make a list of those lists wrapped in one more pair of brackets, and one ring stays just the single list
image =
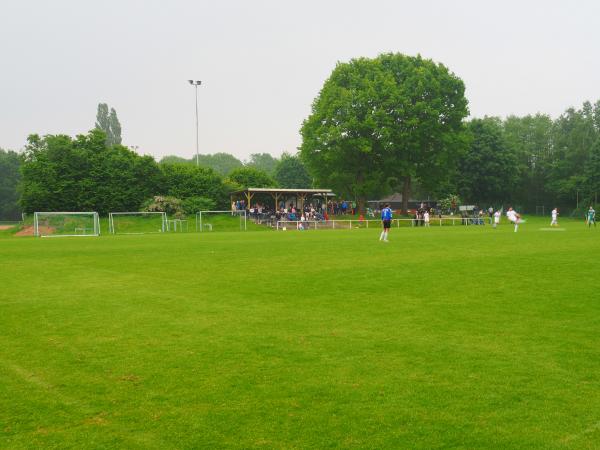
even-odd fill
[{"label": "giant round-crowned leafy tree towering beside the spectator shelter", "polygon": [[447,178],[468,143],[464,84],[420,56],[384,54],[340,63],[302,125],[301,157],[320,184],[365,200],[414,177],[425,187]]}]

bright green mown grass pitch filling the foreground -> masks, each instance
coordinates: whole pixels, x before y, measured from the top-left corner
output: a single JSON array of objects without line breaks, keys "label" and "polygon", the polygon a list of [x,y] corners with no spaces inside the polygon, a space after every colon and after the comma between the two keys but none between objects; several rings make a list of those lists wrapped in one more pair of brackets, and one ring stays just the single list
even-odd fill
[{"label": "bright green mown grass pitch filling the foreground", "polygon": [[0,234],[0,448],[599,448],[600,231]]}]

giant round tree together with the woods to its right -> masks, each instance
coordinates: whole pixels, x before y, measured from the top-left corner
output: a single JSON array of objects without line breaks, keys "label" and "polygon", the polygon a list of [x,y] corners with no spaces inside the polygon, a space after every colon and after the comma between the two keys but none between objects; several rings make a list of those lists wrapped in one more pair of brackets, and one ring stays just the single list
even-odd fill
[{"label": "giant round tree together with the woods to its right", "polygon": [[340,63],[302,125],[301,157],[320,185],[358,200],[411,190],[469,203],[574,206],[600,190],[600,102],[558,119],[465,121],[464,84],[401,54]]}]

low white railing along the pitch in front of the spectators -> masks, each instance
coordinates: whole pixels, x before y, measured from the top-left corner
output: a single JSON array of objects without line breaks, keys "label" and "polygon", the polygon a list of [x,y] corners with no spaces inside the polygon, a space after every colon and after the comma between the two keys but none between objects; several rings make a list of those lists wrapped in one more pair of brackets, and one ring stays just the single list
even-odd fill
[{"label": "low white railing along the pitch in front of the spectators", "polygon": [[[429,219],[429,225],[423,219],[392,219],[391,226],[418,227],[418,226],[454,226],[454,225],[485,225],[491,224],[490,217],[435,217]],[[351,230],[360,228],[381,228],[381,220],[279,220],[277,230]]]}]

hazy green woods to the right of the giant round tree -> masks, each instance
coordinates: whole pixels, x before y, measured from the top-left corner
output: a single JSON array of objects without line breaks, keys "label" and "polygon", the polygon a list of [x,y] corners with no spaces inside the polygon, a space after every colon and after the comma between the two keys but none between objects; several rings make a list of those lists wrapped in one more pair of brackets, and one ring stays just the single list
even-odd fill
[{"label": "hazy green woods to the right of the giant round tree", "polygon": [[600,191],[600,101],[547,115],[469,122],[471,144],[450,189],[484,203],[573,207]]}]

